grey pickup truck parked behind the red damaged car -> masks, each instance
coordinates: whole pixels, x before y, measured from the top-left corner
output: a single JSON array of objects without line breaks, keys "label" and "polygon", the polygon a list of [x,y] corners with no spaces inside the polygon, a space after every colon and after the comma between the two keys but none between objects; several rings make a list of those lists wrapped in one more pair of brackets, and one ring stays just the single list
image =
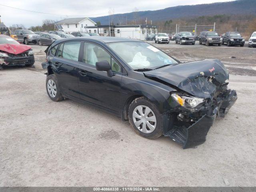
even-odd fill
[{"label": "grey pickup truck parked behind the red damaged car", "polygon": [[18,42],[23,42],[26,45],[30,43],[36,44],[36,38],[39,37],[39,35],[35,34],[31,30],[24,29],[15,30],[14,34],[18,37]]}]

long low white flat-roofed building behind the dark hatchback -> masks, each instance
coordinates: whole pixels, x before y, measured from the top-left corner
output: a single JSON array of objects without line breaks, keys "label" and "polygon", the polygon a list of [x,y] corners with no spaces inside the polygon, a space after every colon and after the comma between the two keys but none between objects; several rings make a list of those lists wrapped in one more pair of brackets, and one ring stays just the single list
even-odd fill
[{"label": "long low white flat-roofed building behind the dark hatchback", "polygon": [[100,36],[124,37],[146,40],[148,34],[157,33],[157,26],[152,25],[99,25],[88,26],[86,32],[95,32]]}]

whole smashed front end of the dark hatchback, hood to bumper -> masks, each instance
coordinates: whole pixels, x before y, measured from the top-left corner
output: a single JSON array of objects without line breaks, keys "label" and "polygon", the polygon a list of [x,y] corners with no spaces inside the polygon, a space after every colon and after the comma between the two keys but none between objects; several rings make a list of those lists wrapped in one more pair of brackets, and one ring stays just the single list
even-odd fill
[{"label": "whole smashed front end of the dark hatchback, hood to bumper", "polygon": [[[193,68],[189,66],[191,63]],[[197,66],[201,72],[196,72]],[[181,68],[187,68],[183,76],[178,75],[182,74]],[[182,144],[184,149],[202,144],[216,116],[224,117],[237,100],[236,91],[228,89],[228,71],[219,60],[190,62],[168,70],[168,78],[167,73],[163,76],[156,76],[158,72],[145,74],[177,90],[170,93],[172,109],[168,111],[170,123],[164,129],[164,136]],[[183,80],[178,82],[178,79]]]}]

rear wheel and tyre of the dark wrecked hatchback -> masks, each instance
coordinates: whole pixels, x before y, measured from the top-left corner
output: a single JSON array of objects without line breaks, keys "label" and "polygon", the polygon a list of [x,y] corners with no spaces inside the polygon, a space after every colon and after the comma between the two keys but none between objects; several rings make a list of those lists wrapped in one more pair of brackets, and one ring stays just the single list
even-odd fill
[{"label": "rear wheel and tyre of the dark wrecked hatchback", "polygon": [[61,90],[60,90],[60,85],[59,85],[58,80],[54,74],[47,76],[46,90],[47,90],[47,94],[51,100],[56,101],[56,102],[63,100]]}]

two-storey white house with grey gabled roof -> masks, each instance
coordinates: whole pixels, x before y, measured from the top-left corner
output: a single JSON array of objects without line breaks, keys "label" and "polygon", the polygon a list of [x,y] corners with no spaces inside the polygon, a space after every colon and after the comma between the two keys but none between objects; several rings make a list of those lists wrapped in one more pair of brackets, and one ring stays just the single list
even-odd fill
[{"label": "two-storey white house with grey gabled roof", "polygon": [[74,31],[86,32],[87,26],[95,26],[96,23],[88,17],[68,18],[57,22],[56,27],[64,32],[71,33]]}]

